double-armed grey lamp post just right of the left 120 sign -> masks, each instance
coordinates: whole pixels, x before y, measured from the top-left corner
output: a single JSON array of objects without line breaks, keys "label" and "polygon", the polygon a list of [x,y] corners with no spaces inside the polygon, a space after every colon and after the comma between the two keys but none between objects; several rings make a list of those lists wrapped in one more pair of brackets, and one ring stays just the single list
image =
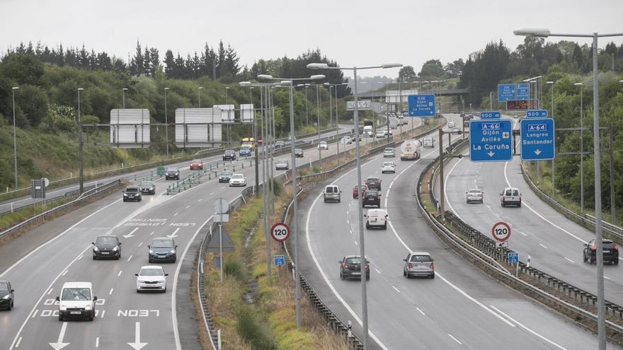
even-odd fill
[{"label": "double-armed grey lamp post just right of the left 120 sign", "polygon": [[[290,161],[292,162],[292,234],[295,237],[295,276],[296,276],[296,295],[297,295],[297,305],[296,305],[296,315],[297,315],[297,328],[301,327],[301,279],[299,278],[299,231],[297,231],[297,211],[298,211],[298,200],[297,200],[297,161],[295,157],[295,109],[294,109],[294,99],[292,98],[292,89],[294,88],[294,81],[301,80],[321,80],[324,79],[324,75],[314,75],[309,78],[273,78],[268,74],[258,75],[259,79],[266,80],[280,80],[280,85],[289,86],[288,89],[290,93]],[[270,242],[268,243],[270,245]],[[270,256],[268,257],[270,264]]]}]

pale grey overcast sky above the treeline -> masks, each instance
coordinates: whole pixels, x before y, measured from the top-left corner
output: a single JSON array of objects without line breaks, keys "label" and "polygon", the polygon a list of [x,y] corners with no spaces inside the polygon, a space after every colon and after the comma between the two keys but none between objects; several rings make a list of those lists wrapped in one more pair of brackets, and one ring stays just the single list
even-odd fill
[{"label": "pale grey overcast sky above the treeline", "polygon": [[[0,0],[0,49],[41,41],[127,59],[142,46],[201,51],[231,44],[241,65],[321,49],[341,66],[399,62],[421,69],[428,59],[465,59],[491,40],[515,49],[513,30],[623,33],[622,0]],[[549,40],[558,41],[553,37]],[[604,38],[620,45],[621,37]],[[578,40],[588,43],[590,40]],[[397,76],[398,69],[362,71]]]}]

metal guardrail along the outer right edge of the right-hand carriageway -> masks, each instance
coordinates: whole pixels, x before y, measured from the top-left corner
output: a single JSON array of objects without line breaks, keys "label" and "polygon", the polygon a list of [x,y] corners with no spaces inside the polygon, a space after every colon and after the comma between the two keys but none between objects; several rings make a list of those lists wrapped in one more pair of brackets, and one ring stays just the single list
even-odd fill
[{"label": "metal guardrail along the outer right edge of the right-hand carriageway", "polygon": [[[532,181],[532,178],[530,178],[530,175],[525,169],[524,163],[521,163],[521,174],[523,175],[525,182],[527,182],[528,186],[530,186],[530,189],[532,189],[532,191],[535,192],[535,194],[537,194],[540,199],[542,199],[544,202],[547,202],[547,204],[556,209],[556,211],[571,219],[571,221],[579,223],[585,228],[588,228],[590,230],[595,229],[595,216],[588,214],[578,214],[575,211],[568,209],[563,204],[556,202],[556,199],[549,197],[549,195],[545,194],[545,192],[543,192],[535,184],[535,182]],[[610,238],[615,239],[617,243],[623,245],[623,228],[603,220],[601,222],[603,233],[605,233],[605,235],[610,235]]]}]

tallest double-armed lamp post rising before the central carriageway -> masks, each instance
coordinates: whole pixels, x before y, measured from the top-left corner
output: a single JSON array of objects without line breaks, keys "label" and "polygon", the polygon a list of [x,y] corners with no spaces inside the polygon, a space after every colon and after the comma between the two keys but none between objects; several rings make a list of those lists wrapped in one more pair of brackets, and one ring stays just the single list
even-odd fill
[{"label": "tallest double-armed lamp post rising before the central carriageway", "polygon": [[[353,71],[353,77],[354,77],[354,91],[353,91],[353,95],[354,95],[354,105],[353,105],[353,114],[355,117],[355,130],[359,130],[359,109],[357,106],[357,70],[358,69],[375,69],[375,68],[395,68],[395,67],[401,67],[402,64],[398,64],[398,63],[390,63],[390,64],[382,64],[380,66],[367,66],[367,67],[352,67],[352,68],[345,68],[345,67],[330,67],[328,66],[328,64],[326,63],[310,63],[307,64],[307,68],[309,69],[340,69],[340,70],[351,70]],[[355,153],[356,153],[356,157],[357,157],[357,183],[356,185],[358,186],[360,192],[361,192],[361,188],[360,188],[360,184],[361,184],[361,154],[360,154],[360,150],[359,150],[359,137],[355,137]],[[363,209],[361,206],[361,200],[362,200],[362,193],[359,194],[358,196],[358,211],[359,211],[359,251],[360,251],[360,257],[361,257],[361,272],[362,274],[365,273],[365,239],[364,239],[364,231],[363,231]],[[363,349],[367,350],[368,346],[367,346],[367,338],[368,338],[368,325],[367,325],[367,291],[366,291],[366,287],[365,287],[365,279],[362,278],[361,279],[361,314],[362,314],[362,327],[363,327]]]}]

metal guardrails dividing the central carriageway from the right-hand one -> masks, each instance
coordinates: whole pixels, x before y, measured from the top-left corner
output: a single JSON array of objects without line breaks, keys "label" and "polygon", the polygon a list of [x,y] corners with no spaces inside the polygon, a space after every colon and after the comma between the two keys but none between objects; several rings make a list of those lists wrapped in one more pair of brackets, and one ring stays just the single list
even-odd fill
[{"label": "metal guardrails dividing the central carriageway from the right-hand one", "polygon": [[[433,216],[433,214],[430,214],[428,210],[425,209],[421,202],[421,186],[423,177],[437,161],[438,158],[435,158],[433,163],[429,163],[418,177],[416,195],[418,207],[424,214],[425,218],[427,218],[429,225],[434,229],[435,233],[438,233],[440,238],[442,238],[445,242],[451,243],[462,253],[472,257],[476,263],[480,264],[481,267],[484,267],[484,269],[496,276],[496,278],[503,281],[505,284],[508,284],[516,290],[524,293],[526,296],[535,298],[550,307],[557,308],[559,312],[573,319],[575,322],[584,325],[585,327],[588,326],[585,325],[585,323],[582,323],[582,321],[589,321],[591,327],[595,328],[598,316],[595,313],[585,310],[584,308],[589,306],[595,307],[597,304],[597,296],[592,293],[588,293],[587,291],[583,291],[581,288],[572,286],[561,279],[557,279],[554,276],[546,274],[539,269],[530,267],[523,262],[519,263],[522,274],[530,276],[533,280],[535,279],[538,284],[547,285],[549,288],[554,289],[556,293],[560,293],[562,296],[571,298],[581,306],[568,303],[562,298],[559,298],[559,296],[555,296],[547,291],[544,291],[544,289],[539,288],[539,286],[535,286],[534,284],[530,284],[517,276],[513,276],[513,274],[510,274],[507,269],[501,267],[501,264],[507,263],[508,254],[513,252],[512,250],[509,250],[506,247],[496,247],[491,238],[488,238],[476,229],[471,228],[471,226],[464,223],[464,221],[460,220],[452,212],[446,211],[446,218],[448,218],[450,224],[457,228],[457,231],[460,233],[460,235],[457,235],[444,226],[437,217]],[[433,192],[430,187],[431,182],[433,181],[431,180],[429,182],[429,190],[431,190],[430,195],[432,196]],[[607,313],[612,315],[612,317],[617,317],[619,320],[623,320],[623,307],[620,305],[606,301],[606,310]],[[623,342],[623,326],[612,322],[611,320],[606,320],[606,327],[609,329],[609,332],[607,332],[608,339],[612,342],[617,342],[617,344],[621,344]]]}]

